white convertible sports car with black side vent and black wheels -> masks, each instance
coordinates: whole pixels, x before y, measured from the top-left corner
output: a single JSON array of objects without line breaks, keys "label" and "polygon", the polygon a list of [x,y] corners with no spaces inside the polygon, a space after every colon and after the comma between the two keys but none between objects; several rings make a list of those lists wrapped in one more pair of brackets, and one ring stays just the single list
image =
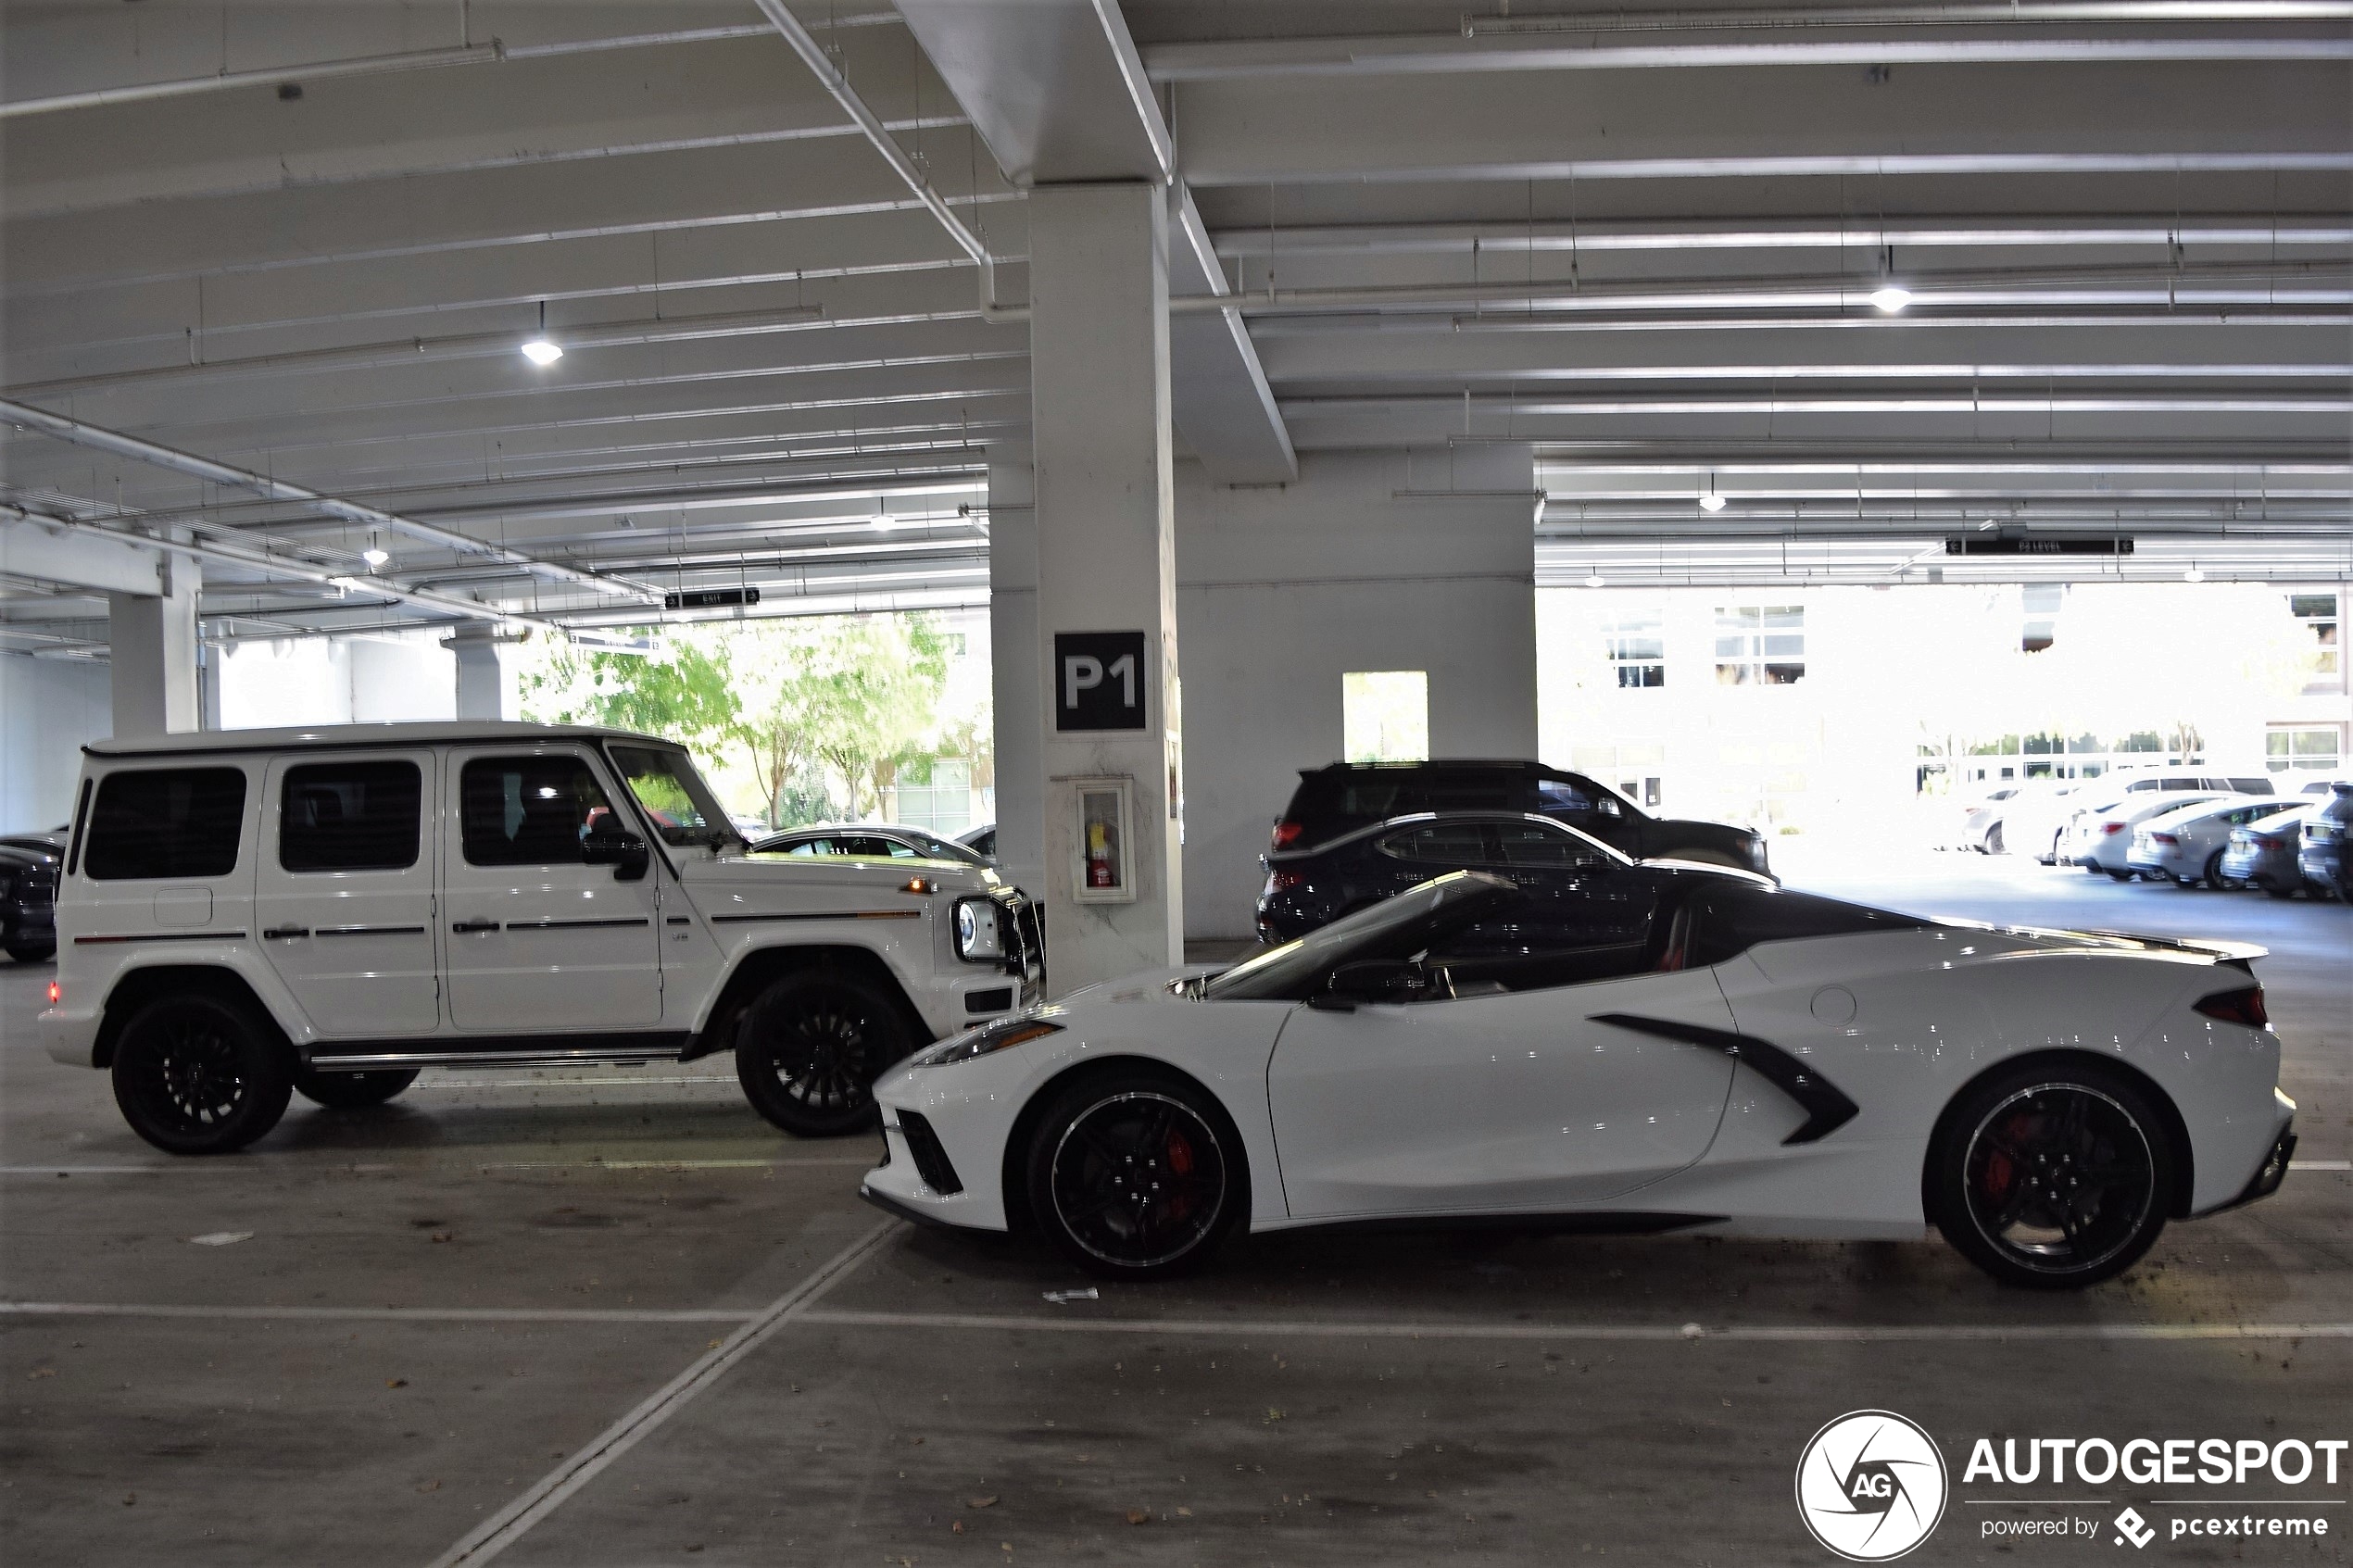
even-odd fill
[{"label": "white convertible sports car with black side vent and black wheels", "polygon": [[1995,1279],[2087,1286],[2287,1171],[2259,950],[1659,870],[1595,879],[1652,903],[1640,943],[1551,945],[1518,886],[1454,872],[1226,971],[958,1034],[875,1086],[864,1197],[1038,1227],[1113,1279],[1198,1267],[1235,1227],[1501,1218],[1934,1222]]}]

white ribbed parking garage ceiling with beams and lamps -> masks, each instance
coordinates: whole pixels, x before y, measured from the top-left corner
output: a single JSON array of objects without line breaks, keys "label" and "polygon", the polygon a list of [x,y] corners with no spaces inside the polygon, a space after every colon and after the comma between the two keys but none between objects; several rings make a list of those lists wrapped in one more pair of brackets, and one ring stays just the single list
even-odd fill
[{"label": "white ribbed parking garage ceiling with beams and lamps", "polygon": [[[1002,303],[1000,153],[1174,167],[1176,292],[1247,327],[1181,306],[1214,470],[1534,442],[1541,581],[1892,581],[1984,522],[2353,574],[2348,5],[965,0],[953,52],[901,9],[793,5]],[[1035,12],[1104,63],[991,33]],[[209,635],[986,595],[1026,327],[753,0],[0,26],[0,397],[346,503],[0,442],[31,512],[195,529]],[[101,642],[0,581],[0,646]]]}]

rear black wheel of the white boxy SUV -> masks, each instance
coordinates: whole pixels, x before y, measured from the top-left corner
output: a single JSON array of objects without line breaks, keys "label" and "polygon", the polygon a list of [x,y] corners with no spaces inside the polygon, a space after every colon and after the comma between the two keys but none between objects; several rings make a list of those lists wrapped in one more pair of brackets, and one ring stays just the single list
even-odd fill
[{"label": "rear black wheel of the white boxy SUV", "polygon": [[231,1154],[285,1117],[292,1053],[221,997],[160,997],[115,1039],[115,1105],[169,1154]]}]

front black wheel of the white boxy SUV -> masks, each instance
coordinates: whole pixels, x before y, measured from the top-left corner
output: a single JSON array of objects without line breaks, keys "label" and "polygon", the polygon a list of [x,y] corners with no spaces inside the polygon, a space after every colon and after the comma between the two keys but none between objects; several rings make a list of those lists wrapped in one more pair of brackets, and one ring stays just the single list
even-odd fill
[{"label": "front black wheel of the white boxy SUV", "polygon": [[880,987],[826,971],[786,976],[744,1013],[736,1081],[784,1131],[840,1138],[878,1124],[875,1079],[913,1046]]}]

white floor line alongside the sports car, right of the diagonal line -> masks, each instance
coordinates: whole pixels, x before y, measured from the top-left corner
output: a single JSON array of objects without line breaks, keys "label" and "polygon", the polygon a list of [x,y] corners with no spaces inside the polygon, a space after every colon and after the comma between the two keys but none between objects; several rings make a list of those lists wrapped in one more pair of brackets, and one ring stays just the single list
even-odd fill
[{"label": "white floor line alongside the sports car, right of the diagonal line", "polygon": [[[833,1328],[967,1328],[984,1333],[1165,1333],[1292,1340],[1741,1340],[1767,1345],[1885,1345],[1904,1340],[2353,1340],[2353,1324],[1301,1324],[1233,1319],[1111,1319],[988,1312],[802,1312]],[[1699,1328],[1699,1333],[1692,1333]]]}]

